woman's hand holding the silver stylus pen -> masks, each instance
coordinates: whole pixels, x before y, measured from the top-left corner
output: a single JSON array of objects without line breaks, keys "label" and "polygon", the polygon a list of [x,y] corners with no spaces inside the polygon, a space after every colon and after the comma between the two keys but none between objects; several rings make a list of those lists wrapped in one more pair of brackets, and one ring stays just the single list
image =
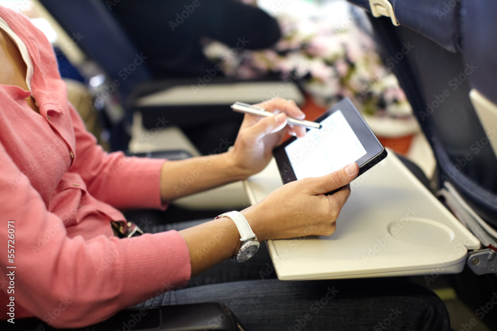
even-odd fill
[{"label": "woman's hand holding the silver stylus pen", "polygon": [[293,100],[274,98],[255,106],[280,114],[272,117],[245,114],[235,146],[228,153],[233,164],[246,177],[258,173],[267,166],[271,160],[273,148],[281,143],[287,130],[297,137],[304,137],[306,134],[303,127],[287,125],[287,115],[299,120],[305,117]]}]

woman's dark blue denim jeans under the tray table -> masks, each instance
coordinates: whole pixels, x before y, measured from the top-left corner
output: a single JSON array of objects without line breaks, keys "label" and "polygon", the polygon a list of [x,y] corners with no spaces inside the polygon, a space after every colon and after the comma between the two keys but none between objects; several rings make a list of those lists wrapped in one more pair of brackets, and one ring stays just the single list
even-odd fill
[{"label": "woman's dark blue denim jeans under the tray table", "polygon": [[[202,221],[171,223],[150,232],[181,230]],[[402,278],[281,281],[265,244],[242,264],[225,261],[187,287],[137,307],[220,302],[248,330],[450,330],[444,303]]]}]

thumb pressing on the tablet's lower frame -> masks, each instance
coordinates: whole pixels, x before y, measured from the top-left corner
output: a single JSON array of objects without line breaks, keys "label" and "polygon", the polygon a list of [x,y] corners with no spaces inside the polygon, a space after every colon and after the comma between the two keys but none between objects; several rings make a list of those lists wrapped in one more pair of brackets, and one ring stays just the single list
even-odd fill
[{"label": "thumb pressing on the tablet's lower frame", "polygon": [[310,178],[311,193],[325,194],[339,189],[352,182],[358,173],[359,166],[354,162],[325,176]]}]

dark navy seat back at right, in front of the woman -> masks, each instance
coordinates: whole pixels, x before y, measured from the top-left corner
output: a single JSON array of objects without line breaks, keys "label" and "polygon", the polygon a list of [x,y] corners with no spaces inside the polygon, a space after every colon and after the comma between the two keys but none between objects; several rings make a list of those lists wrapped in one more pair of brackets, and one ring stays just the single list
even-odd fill
[{"label": "dark navy seat back at right, in front of the woman", "polygon": [[[369,3],[380,1],[351,2],[371,10]],[[497,158],[490,143],[497,138],[495,127],[494,132],[489,128],[491,115],[481,122],[470,98],[470,91],[477,92],[497,105],[497,3],[390,3],[395,16],[370,14],[370,20],[385,64],[397,75],[433,148],[439,179],[451,181],[480,216],[497,226]]]}]

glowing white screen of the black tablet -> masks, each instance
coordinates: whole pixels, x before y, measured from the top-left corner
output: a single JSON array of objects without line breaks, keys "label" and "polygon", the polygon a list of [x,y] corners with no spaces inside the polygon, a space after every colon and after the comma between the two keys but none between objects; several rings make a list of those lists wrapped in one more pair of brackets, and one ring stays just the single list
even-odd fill
[{"label": "glowing white screen of the black tablet", "polygon": [[366,154],[341,110],[320,124],[321,129],[312,129],[285,147],[297,179],[329,174]]}]

